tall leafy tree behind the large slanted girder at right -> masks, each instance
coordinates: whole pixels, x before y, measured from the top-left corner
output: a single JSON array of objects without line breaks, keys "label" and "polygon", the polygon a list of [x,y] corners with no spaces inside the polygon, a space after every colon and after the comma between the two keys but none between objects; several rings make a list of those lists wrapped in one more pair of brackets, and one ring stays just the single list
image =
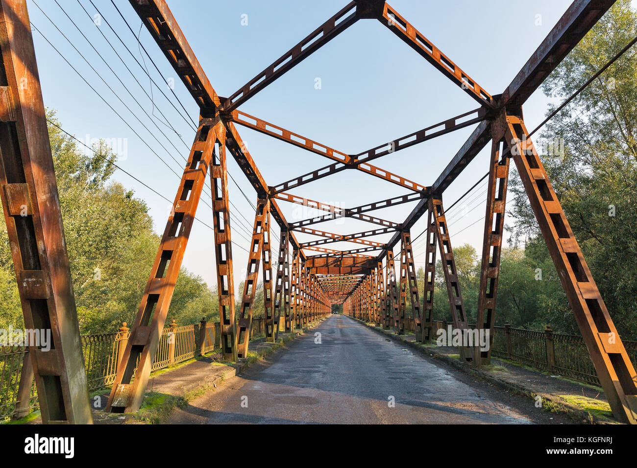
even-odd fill
[{"label": "tall leafy tree behind the large slanted girder at right", "polygon": [[[563,101],[637,34],[637,13],[619,0],[543,84]],[[541,134],[553,145],[536,145],[575,237],[622,337],[637,336],[637,50],[629,49],[555,115]],[[553,108],[548,110],[548,113]],[[540,142],[541,143],[541,142]],[[557,143],[557,145],[555,145]],[[555,152],[555,147],[563,152]],[[548,255],[517,174],[513,194],[512,244]],[[564,299],[553,290],[540,315],[560,316]],[[576,329],[572,314],[562,323]]]}]

